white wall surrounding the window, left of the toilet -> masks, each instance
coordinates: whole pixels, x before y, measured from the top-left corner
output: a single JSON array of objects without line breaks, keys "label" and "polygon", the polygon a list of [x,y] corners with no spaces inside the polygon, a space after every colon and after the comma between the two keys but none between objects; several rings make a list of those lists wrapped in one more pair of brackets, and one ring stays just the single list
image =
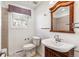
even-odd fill
[{"label": "white wall surrounding the window, left of the toilet", "polygon": [[[27,29],[16,29],[11,26],[11,18],[10,12],[8,12],[8,48],[9,48],[9,56],[18,56],[16,52],[23,49],[23,45],[28,43],[29,41],[25,41],[25,38],[30,38],[34,35],[34,10],[32,8],[24,7],[22,5],[17,4],[16,2],[2,2],[2,7],[8,8],[8,4],[15,5],[22,8],[31,9],[32,15],[31,20],[29,20]],[[19,56],[22,56],[23,53],[20,53]]]}]

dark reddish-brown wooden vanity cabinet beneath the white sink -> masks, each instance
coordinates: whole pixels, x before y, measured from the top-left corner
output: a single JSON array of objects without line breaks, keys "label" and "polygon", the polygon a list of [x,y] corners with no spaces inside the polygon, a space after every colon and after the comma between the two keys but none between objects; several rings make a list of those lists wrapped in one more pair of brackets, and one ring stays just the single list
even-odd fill
[{"label": "dark reddish-brown wooden vanity cabinet beneath the white sink", "polygon": [[73,57],[74,48],[68,52],[58,52],[48,47],[45,47],[45,57]]}]

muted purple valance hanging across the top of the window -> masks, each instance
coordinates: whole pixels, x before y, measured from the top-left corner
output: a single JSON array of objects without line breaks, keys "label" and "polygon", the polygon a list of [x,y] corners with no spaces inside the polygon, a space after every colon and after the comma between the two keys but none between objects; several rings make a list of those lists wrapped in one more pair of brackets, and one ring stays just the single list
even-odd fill
[{"label": "muted purple valance hanging across the top of the window", "polygon": [[21,13],[21,14],[27,14],[31,16],[31,10],[29,9],[24,9],[24,8],[20,8],[14,5],[8,5],[8,11],[9,12],[16,12],[16,13]]}]

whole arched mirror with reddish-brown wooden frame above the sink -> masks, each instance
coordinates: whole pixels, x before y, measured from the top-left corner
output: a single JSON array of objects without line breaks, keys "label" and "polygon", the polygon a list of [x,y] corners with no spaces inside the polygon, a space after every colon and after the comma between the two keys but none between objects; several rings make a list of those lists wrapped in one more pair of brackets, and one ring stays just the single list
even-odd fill
[{"label": "whole arched mirror with reddish-brown wooden frame above the sink", "polygon": [[51,32],[74,33],[74,2],[58,1],[51,11]]}]

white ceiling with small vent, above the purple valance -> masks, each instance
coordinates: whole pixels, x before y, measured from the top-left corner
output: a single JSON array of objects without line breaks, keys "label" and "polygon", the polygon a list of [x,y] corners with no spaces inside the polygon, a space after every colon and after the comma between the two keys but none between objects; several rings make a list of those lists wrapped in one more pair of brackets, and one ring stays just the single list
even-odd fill
[{"label": "white ceiling with small vent, above the purple valance", "polygon": [[8,4],[18,4],[24,7],[36,8],[44,1],[2,1],[2,5],[6,6]]}]

